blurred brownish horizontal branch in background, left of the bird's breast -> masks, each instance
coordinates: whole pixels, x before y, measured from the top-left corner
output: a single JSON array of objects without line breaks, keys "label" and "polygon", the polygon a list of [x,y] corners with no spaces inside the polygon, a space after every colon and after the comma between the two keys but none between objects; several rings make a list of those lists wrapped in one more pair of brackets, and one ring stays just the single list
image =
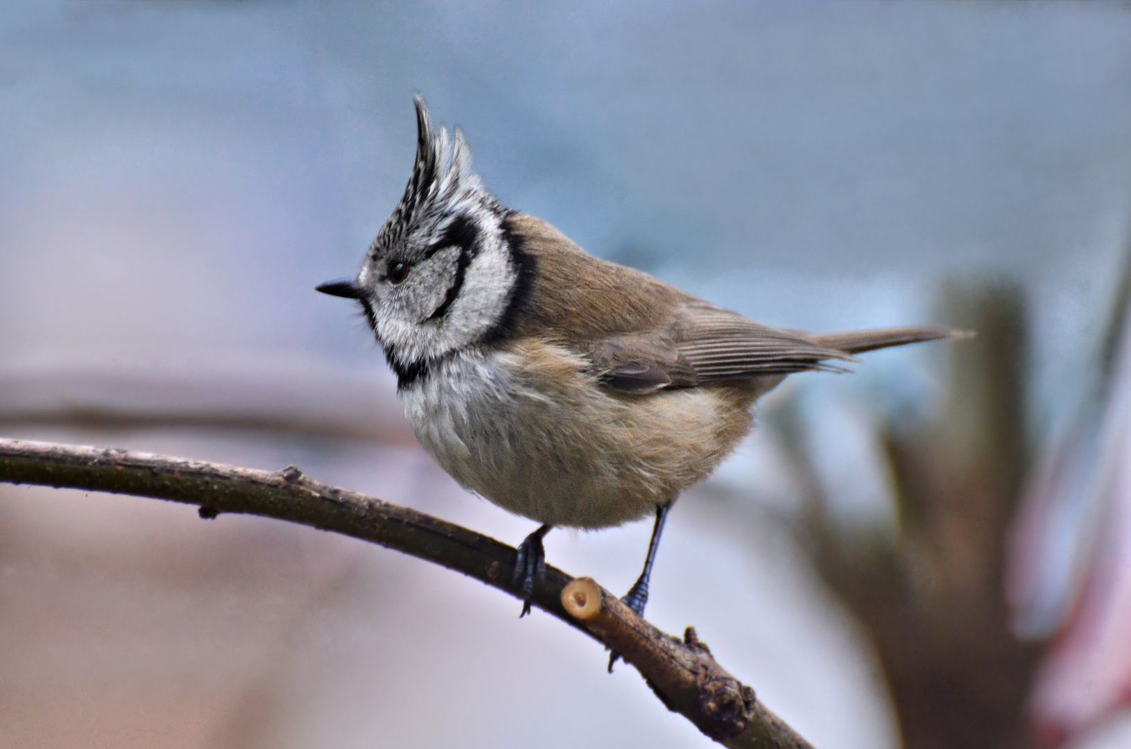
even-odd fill
[{"label": "blurred brownish horizontal branch in background, left of the bird's breast", "polygon": [[381,373],[302,360],[191,369],[0,365],[0,429],[244,429],[415,445]]}]

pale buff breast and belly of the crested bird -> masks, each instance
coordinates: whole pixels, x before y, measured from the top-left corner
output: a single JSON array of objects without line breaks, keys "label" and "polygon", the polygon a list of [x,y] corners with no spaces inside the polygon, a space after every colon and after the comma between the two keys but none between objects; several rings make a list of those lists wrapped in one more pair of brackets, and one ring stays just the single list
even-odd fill
[{"label": "pale buff breast and belly of the crested bird", "polygon": [[671,502],[750,430],[753,384],[614,395],[545,341],[468,353],[403,393],[417,439],[465,488],[539,523],[619,525]]}]

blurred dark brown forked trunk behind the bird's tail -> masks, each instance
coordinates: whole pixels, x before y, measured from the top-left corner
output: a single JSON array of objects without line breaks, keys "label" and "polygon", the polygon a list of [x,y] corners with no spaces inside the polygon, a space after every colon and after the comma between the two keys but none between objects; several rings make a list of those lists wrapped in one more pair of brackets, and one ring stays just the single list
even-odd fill
[{"label": "blurred dark brown forked trunk behind the bird's tail", "polygon": [[[1044,645],[1010,630],[1003,576],[1028,464],[1026,307],[1004,282],[952,283],[944,406],[927,423],[883,427],[899,532],[846,537],[811,480],[806,531],[819,571],[871,635],[907,749],[1027,744],[1026,706]],[[788,430],[787,430],[788,431]]]}]

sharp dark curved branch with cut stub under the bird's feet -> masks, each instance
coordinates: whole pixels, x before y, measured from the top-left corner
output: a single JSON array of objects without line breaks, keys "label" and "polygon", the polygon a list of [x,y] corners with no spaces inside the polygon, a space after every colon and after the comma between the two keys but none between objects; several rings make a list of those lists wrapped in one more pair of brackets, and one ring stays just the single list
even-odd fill
[{"label": "sharp dark curved branch with cut stub under the bird's feet", "polygon": [[[200,516],[240,513],[301,523],[396,549],[516,597],[512,546],[407,507],[322,484],[295,466],[256,471],[148,453],[0,439],[0,482],[169,499]],[[677,639],[589,578],[546,567],[534,605],[615,649],[664,705],[726,747],[812,749],[727,673],[688,628]]]}]

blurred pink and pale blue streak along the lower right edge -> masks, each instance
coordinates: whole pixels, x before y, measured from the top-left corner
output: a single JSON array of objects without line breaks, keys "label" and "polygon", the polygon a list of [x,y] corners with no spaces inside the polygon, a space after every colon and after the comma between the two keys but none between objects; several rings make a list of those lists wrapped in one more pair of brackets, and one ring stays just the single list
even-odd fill
[{"label": "blurred pink and pale blue streak along the lower right edge", "polygon": [[[1022,606],[1060,596],[1065,608],[1034,687],[1044,746],[1087,735],[1131,704],[1131,328],[1124,325],[1100,415],[1046,463],[1019,523],[1015,579]],[[1068,516],[1064,508],[1073,508]],[[1044,553],[1047,559],[1037,558]],[[1061,591],[1041,591],[1041,567],[1070,572]],[[1063,575],[1063,572],[1061,572]],[[1047,578],[1047,575],[1046,575]],[[1024,615],[1024,614],[1022,614]],[[1052,623],[1052,622],[1051,622]]]}]

